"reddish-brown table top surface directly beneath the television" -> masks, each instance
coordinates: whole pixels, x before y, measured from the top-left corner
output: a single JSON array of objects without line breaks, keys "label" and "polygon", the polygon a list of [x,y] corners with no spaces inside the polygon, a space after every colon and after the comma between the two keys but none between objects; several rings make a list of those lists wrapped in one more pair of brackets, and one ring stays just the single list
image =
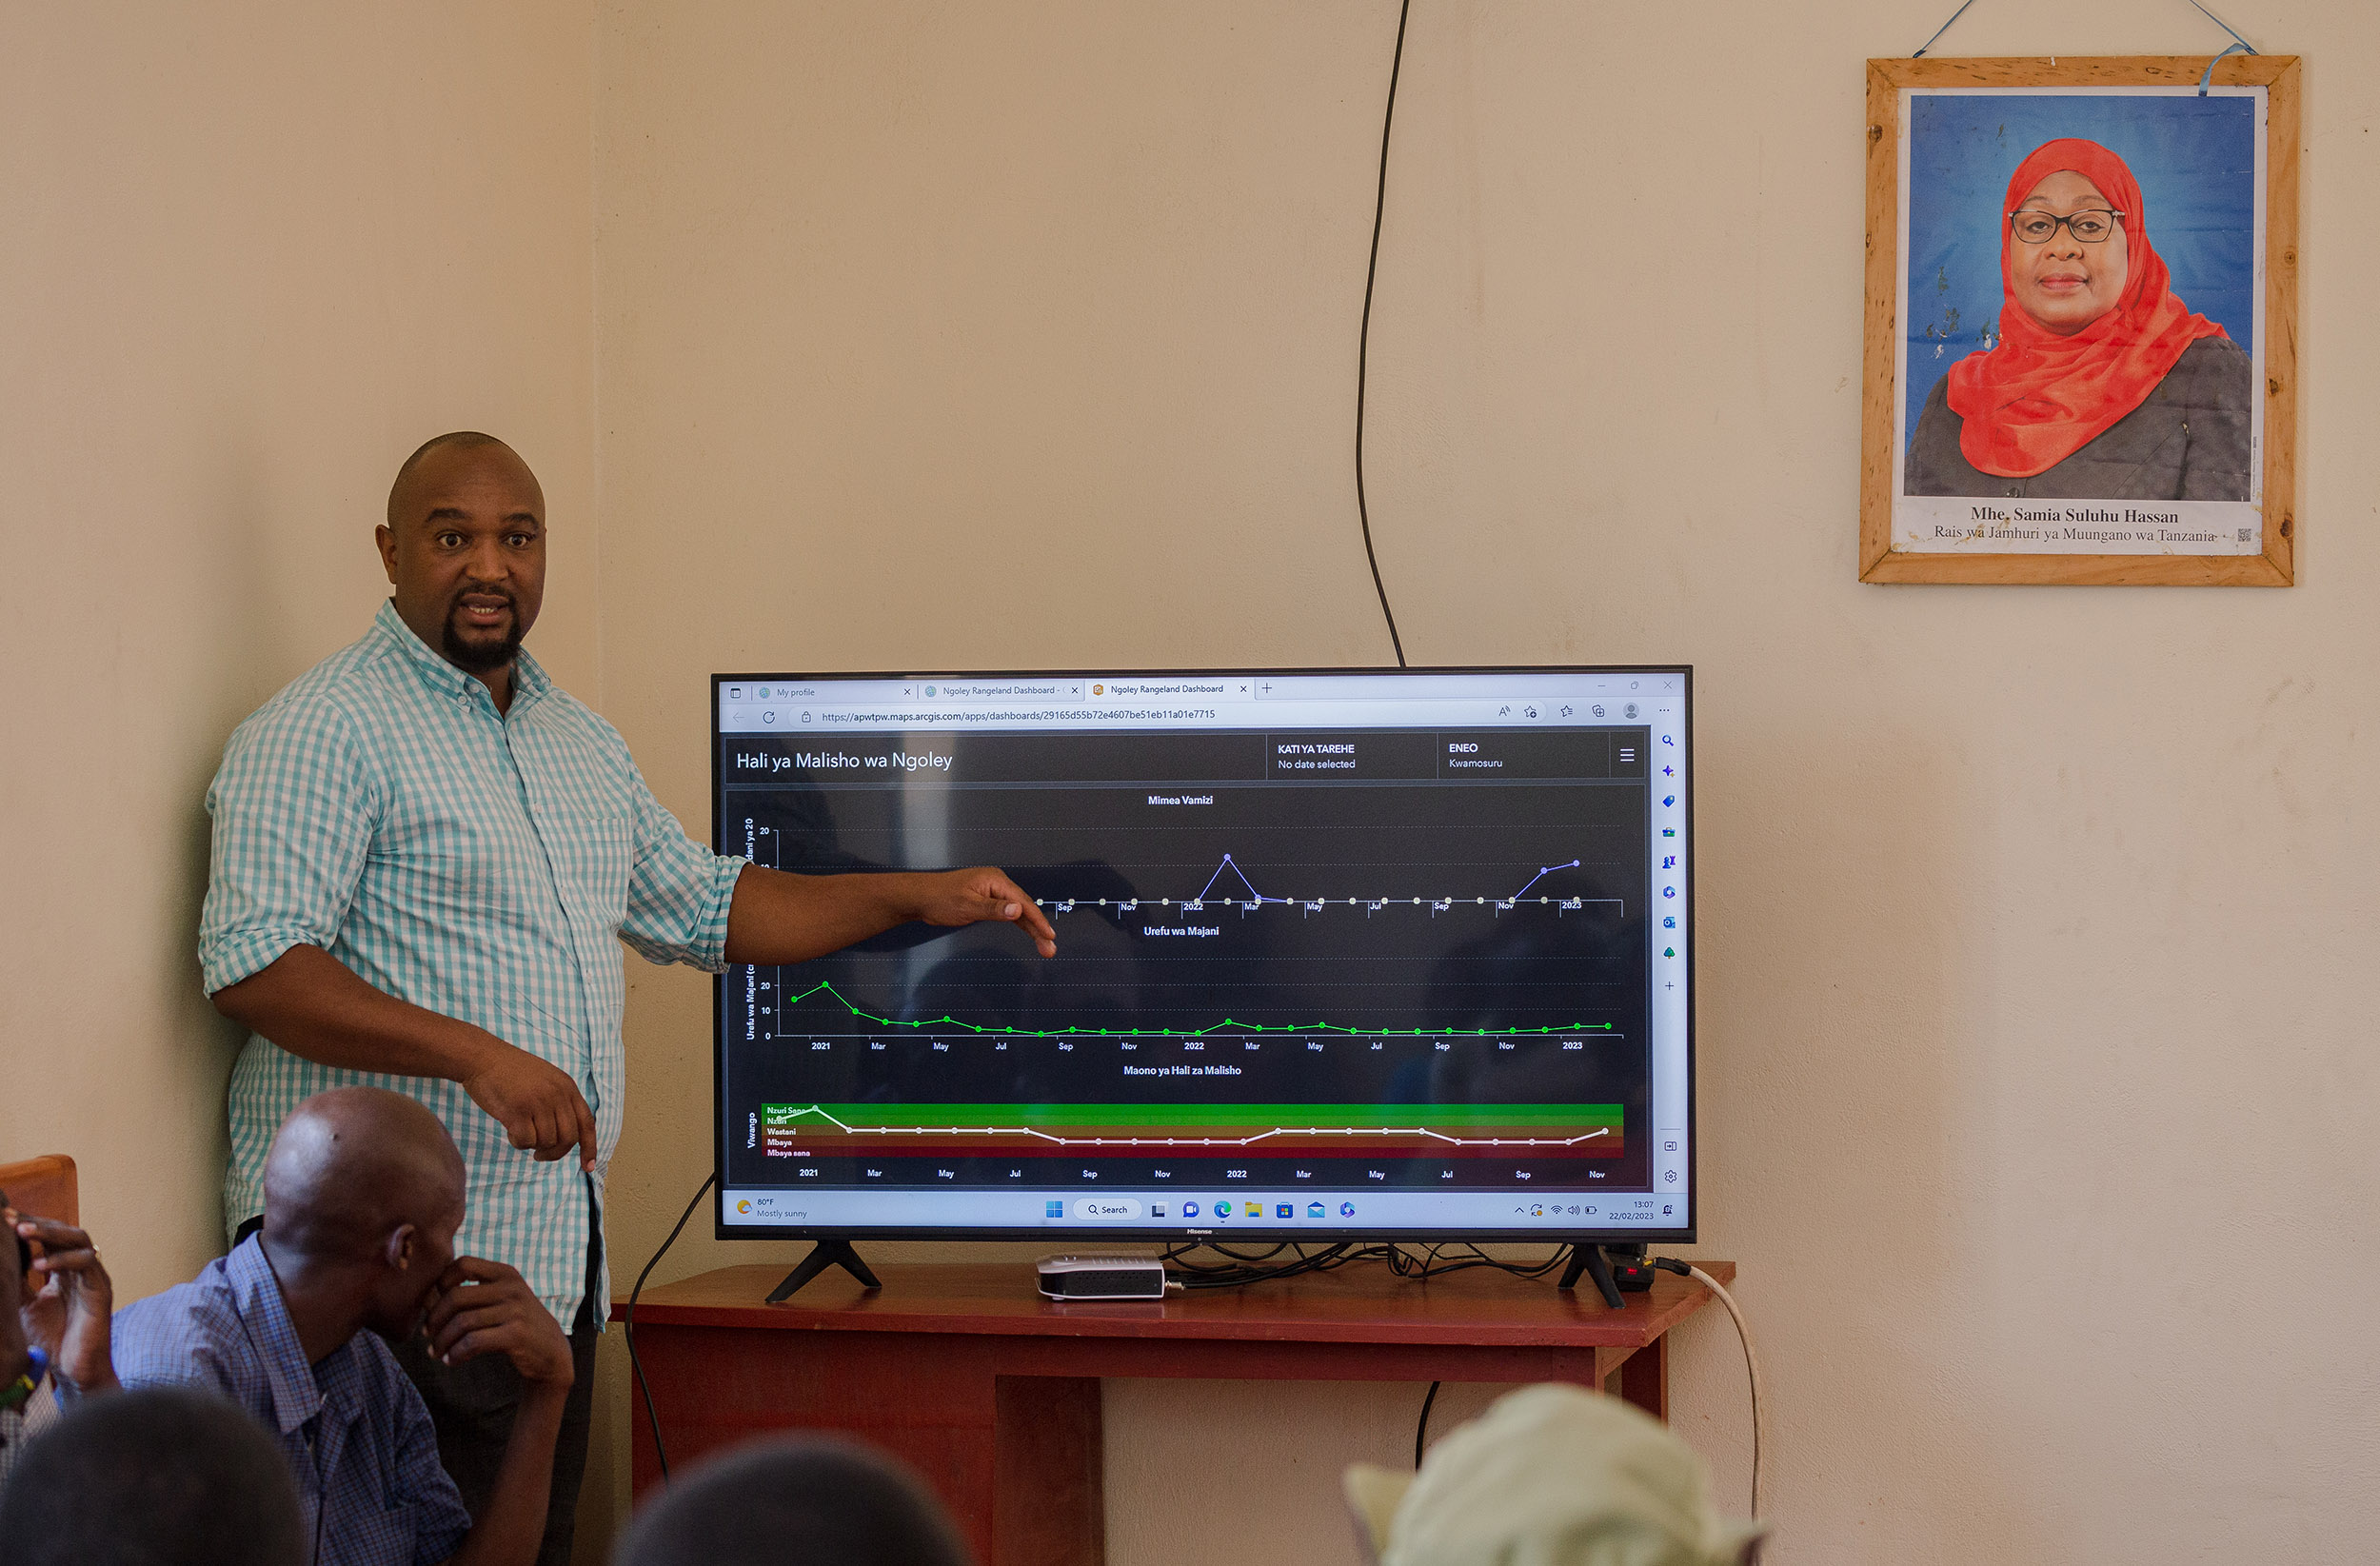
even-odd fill
[{"label": "reddish-brown table top surface directly beneath the television", "polygon": [[[1733,1261],[1697,1261],[1721,1283]],[[1606,1309],[1595,1288],[1492,1269],[1418,1283],[1359,1264],[1233,1290],[1166,1299],[1059,1302],[1035,1288],[1031,1261],[876,1266],[881,1290],[828,1271],[785,1304],[764,1304],[783,1264],[724,1266],[647,1288],[635,1323],[740,1330],[935,1333],[1019,1338],[1233,1338],[1276,1342],[1426,1342],[1478,1347],[1645,1347],[1709,1302],[1690,1278],[1656,1273],[1652,1290]],[[626,1302],[612,1302],[612,1318]]]}]

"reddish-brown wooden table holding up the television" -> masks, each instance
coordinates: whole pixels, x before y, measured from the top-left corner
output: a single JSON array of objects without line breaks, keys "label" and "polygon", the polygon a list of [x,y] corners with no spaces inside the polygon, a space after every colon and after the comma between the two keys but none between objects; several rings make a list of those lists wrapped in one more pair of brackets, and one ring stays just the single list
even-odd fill
[{"label": "reddish-brown wooden table holding up the television", "polygon": [[[1733,1261],[1702,1261],[1728,1283]],[[988,1566],[1097,1566],[1100,1378],[1576,1380],[1668,1416],[1668,1340],[1709,1292],[1656,1273],[1604,1309],[1592,1290],[1468,1271],[1409,1283],[1380,1266],[1059,1304],[1023,1261],[883,1266],[881,1292],[828,1273],[762,1304],[783,1266],[728,1266],[645,1292],[635,1345],[669,1459],[764,1430],[840,1430],[914,1464]],[[624,1304],[614,1302],[619,1321]],[[659,1478],[645,1409],[635,1487]]]}]

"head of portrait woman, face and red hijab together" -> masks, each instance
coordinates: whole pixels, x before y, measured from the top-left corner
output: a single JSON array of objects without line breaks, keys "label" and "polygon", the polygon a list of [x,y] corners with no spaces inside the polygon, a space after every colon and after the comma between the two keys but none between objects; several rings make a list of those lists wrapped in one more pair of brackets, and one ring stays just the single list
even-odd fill
[{"label": "head of portrait woman, face and red hijab together", "polygon": [[2035,148],[2002,202],[1999,343],[1949,371],[1959,450],[1985,474],[2037,476],[2140,407],[2199,338],[2149,245],[2140,181],[2094,140]]}]

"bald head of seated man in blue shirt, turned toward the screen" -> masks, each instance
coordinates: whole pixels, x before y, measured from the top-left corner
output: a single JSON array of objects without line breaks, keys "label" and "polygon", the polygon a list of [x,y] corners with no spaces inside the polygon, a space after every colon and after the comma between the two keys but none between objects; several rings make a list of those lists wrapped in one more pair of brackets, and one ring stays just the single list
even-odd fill
[{"label": "bald head of seated man in blue shirt, turned toward the screen", "polygon": [[462,1219],[455,1138],[402,1092],[331,1088],[290,1111],[264,1159],[264,1240],[312,1261],[369,1261],[400,1226]]}]

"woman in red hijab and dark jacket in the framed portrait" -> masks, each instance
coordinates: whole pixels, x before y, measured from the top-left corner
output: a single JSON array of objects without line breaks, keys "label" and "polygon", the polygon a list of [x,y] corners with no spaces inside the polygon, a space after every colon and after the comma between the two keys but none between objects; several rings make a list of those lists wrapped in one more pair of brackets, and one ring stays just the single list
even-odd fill
[{"label": "woman in red hijab and dark jacket in the framed portrait", "polygon": [[2123,159],[2042,143],[2002,209],[1999,343],[1933,388],[1906,490],[2247,500],[2249,357],[2173,293]]}]

